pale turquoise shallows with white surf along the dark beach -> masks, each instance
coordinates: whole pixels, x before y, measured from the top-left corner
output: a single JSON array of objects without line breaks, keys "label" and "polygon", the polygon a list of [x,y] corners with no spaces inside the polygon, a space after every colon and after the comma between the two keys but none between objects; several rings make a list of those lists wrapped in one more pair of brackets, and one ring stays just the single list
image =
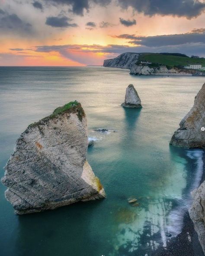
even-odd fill
[{"label": "pale turquoise shallows with white surf along the dark beach", "polygon": [[199,186],[202,156],[202,150],[171,149],[174,166],[161,181],[160,191],[151,198],[139,199],[138,207],[128,205],[117,211],[118,231],[110,256],[149,256],[159,246],[166,249],[170,237],[181,232],[184,213],[191,203],[190,192]]}]

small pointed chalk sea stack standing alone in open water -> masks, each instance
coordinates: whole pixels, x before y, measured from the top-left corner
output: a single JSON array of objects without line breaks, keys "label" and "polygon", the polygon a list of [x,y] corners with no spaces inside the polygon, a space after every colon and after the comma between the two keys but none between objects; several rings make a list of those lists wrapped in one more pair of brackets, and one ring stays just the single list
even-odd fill
[{"label": "small pointed chalk sea stack standing alone in open water", "polygon": [[135,90],[135,87],[133,86],[133,84],[128,85],[126,89],[126,94],[125,94],[125,102],[122,103],[121,106],[135,107],[135,108],[142,107],[140,97],[137,91]]}]

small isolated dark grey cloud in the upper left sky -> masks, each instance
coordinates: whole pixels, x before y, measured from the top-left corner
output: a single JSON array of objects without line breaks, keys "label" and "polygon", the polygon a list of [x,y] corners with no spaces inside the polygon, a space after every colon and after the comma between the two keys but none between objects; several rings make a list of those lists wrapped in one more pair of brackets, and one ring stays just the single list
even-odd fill
[{"label": "small isolated dark grey cloud in the upper left sky", "polygon": [[71,20],[66,16],[51,16],[47,17],[45,24],[55,28],[77,27],[76,23],[69,23]]}]

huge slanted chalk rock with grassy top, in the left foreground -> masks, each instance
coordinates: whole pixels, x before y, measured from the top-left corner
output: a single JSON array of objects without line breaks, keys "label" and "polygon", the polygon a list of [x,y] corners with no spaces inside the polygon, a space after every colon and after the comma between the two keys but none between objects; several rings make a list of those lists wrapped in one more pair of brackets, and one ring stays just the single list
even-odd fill
[{"label": "huge slanted chalk rock with grassy top, in the left foreground", "polygon": [[5,197],[16,214],[105,197],[86,160],[86,116],[77,101],[28,126],[5,166]]}]

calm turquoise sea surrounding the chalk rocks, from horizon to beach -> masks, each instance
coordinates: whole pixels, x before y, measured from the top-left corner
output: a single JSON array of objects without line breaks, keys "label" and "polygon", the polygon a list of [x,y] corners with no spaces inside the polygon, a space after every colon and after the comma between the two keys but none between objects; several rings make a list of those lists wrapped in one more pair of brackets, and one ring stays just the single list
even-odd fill
[{"label": "calm turquoise sea surrounding the chalk rocks, from horizon to beach", "polygon": [[[130,83],[141,110],[120,106]],[[78,100],[96,140],[87,158],[107,198],[17,216],[1,184],[0,255],[150,256],[166,248],[181,231],[203,170],[202,150],[177,149],[169,141],[203,83],[200,77],[137,77],[115,68],[1,67],[0,177],[30,123]],[[130,197],[138,199],[137,207],[128,204]]]}]

